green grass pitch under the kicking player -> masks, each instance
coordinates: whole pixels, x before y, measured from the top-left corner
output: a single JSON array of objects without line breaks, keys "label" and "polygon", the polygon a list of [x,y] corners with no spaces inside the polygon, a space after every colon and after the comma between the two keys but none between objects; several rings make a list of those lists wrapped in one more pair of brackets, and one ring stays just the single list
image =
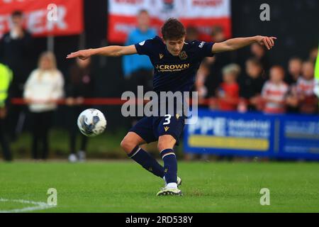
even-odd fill
[{"label": "green grass pitch under the kicking player", "polygon": [[[181,197],[157,197],[163,181],[133,161],[0,163],[0,198],[47,201],[35,212],[319,212],[319,163],[180,162]],[[261,206],[260,189],[270,190]],[[0,201],[0,211],[29,206]]]}]

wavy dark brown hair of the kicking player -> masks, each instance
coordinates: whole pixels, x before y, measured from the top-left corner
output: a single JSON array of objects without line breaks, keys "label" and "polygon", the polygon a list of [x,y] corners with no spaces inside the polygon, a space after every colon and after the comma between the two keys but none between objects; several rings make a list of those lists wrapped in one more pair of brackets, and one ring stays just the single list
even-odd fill
[{"label": "wavy dark brown hair of the kicking player", "polygon": [[169,18],[162,26],[164,40],[179,40],[186,35],[184,25],[176,18]]}]

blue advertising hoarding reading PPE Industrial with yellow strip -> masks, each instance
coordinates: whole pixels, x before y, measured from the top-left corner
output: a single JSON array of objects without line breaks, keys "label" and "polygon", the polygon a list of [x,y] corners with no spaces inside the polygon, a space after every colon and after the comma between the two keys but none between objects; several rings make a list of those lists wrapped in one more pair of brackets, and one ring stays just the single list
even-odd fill
[{"label": "blue advertising hoarding reading PPE Industrial with yellow strip", "polygon": [[186,153],[319,160],[319,116],[198,110],[185,127]]}]

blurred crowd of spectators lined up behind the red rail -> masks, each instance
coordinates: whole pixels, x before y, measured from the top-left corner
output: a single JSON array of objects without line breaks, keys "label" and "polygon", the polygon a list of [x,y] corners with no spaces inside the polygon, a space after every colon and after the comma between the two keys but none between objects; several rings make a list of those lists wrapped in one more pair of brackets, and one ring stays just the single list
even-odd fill
[{"label": "blurred crowd of spectators lined up behind the red rail", "polygon": [[[147,12],[141,11],[140,23],[128,40],[138,42],[139,38],[152,38]],[[16,140],[17,127],[21,126],[21,104],[28,106],[32,124],[34,159],[46,159],[50,150],[48,135],[52,128],[52,115],[58,105],[68,106],[70,119],[88,106],[121,105],[125,101],[120,98],[96,98],[94,96],[94,63],[91,60],[76,60],[68,72],[60,72],[56,64],[55,54],[45,52],[38,57],[38,67],[28,69],[30,47],[35,45],[33,38],[23,29],[22,13],[12,14],[13,27],[0,40],[0,142],[5,160],[12,160],[9,140]],[[141,35],[145,31],[149,37]],[[196,27],[187,28],[186,42],[198,39]],[[216,26],[212,33],[213,42],[225,40],[223,29]],[[198,92],[198,104],[206,109],[218,111],[238,111],[240,113],[260,111],[266,114],[306,114],[318,116],[318,97],[315,96],[314,65],[318,48],[313,48],[306,59],[291,56],[282,65],[273,65],[266,50],[253,44],[245,64],[234,57],[234,52],[216,54],[206,57],[196,74],[194,91]],[[123,58],[123,70],[126,90],[136,92],[142,85],[150,90],[152,70],[150,62]],[[138,64],[137,64],[138,63]],[[136,65],[135,65],[136,64]],[[25,72],[31,72],[25,74]],[[111,78],[110,78],[111,81]],[[137,120],[137,119],[134,119]],[[73,121],[69,121],[73,122]],[[133,121],[135,123],[136,121]],[[77,126],[69,123],[69,160],[84,160],[86,156],[87,138],[81,135],[81,145],[76,149],[75,138],[79,135]]]}]

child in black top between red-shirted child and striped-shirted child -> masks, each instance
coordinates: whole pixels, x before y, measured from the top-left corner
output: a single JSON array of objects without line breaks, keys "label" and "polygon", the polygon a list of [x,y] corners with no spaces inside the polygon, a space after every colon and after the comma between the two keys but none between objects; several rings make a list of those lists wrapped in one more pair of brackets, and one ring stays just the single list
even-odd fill
[{"label": "child in black top between red-shirted child and striped-shirted child", "polygon": [[[261,92],[264,85],[262,64],[255,58],[246,61],[246,74],[241,79],[240,97],[246,100],[248,111],[262,110]],[[241,104],[242,105],[242,104]]]}]

